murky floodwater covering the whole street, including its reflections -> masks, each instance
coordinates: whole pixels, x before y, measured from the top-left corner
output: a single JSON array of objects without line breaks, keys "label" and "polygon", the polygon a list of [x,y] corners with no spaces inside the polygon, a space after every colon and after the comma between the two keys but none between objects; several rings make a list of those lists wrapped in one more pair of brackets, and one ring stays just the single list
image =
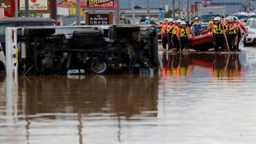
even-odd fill
[{"label": "murky floodwater covering the whole street, including its reflections", "polygon": [[0,143],[254,144],[256,48],[159,53],[156,75],[0,77]]}]

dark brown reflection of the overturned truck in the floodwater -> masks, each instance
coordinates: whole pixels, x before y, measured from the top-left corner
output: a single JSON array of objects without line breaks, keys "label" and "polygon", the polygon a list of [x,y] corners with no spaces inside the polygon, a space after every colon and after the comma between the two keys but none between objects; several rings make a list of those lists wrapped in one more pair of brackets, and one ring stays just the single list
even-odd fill
[{"label": "dark brown reflection of the overturned truck in the floodwater", "polygon": [[155,78],[138,75],[90,75],[84,79],[74,78],[20,78],[19,93],[26,98],[26,105],[20,102],[19,108],[24,107],[26,115],[106,112],[125,116],[127,119],[142,111],[157,111],[158,91]]}]

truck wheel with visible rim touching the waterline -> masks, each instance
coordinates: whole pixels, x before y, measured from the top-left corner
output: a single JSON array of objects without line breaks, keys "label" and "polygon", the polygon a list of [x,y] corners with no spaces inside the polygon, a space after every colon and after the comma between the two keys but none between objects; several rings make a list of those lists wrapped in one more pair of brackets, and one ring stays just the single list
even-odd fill
[{"label": "truck wheel with visible rim touching the waterline", "polygon": [[109,73],[111,70],[110,62],[105,57],[93,57],[88,62],[88,68],[93,73],[97,73],[99,75],[104,73]]}]

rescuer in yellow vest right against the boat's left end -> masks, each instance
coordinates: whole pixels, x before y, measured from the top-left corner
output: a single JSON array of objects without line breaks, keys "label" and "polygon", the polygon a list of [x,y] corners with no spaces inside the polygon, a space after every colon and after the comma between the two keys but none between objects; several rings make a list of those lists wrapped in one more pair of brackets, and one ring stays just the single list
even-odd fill
[{"label": "rescuer in yellow vest right against the boat's left end", "polygon": [[193,35],[193,32],[189,26],[186,26],[185,21],[182,21],[181,25],[177,30],[177,37],[180,43],[180,49],[183,51],[189,49],[189,35]]}]

